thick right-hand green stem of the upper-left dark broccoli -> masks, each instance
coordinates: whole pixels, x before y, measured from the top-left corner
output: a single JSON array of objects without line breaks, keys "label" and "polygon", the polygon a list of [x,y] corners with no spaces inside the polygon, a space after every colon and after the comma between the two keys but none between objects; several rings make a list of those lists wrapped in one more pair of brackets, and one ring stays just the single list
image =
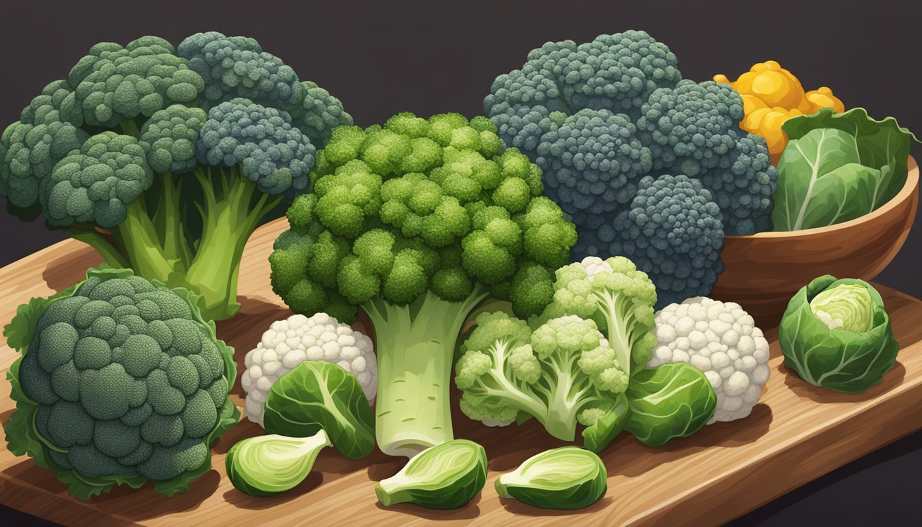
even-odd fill
[{"label": "thick right-hand green stem of the upper-left dark broccoli", "polygon": [[[193,174],[202,186],[205,202],[195,204],[202,215],[202,237],[185,280],[195,284],[202,295],[203,317],[230,318],[240,309],[237,275],[243,247],[260,220],[281,202],[282,195],[259,192],[237,166],[199,168]],[[259,198],[254,198],[256,195]]]}]

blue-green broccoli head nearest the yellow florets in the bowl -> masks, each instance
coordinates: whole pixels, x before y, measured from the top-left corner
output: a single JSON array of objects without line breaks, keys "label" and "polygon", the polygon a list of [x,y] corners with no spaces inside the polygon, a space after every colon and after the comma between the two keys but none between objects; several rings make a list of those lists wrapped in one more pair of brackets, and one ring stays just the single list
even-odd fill
[{"label": "blue-green broccoli head nearest the yellow florets in the bowl", "polygon": [[742,98],[726,84],[682,80],[650,95],[637,129],[655,171],[698,177],[734,150],[745,134],[739,129],[742,118]]}]

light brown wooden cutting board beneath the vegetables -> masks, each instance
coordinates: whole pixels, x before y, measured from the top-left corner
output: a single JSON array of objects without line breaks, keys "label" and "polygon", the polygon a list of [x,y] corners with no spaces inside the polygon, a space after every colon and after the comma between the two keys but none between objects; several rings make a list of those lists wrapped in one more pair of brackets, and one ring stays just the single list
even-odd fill
[{"label": "light brown wooden cutting board beneath the vegetables", "polygon": [[[243,255],[241,313],[219,323],[219,337],[243,355],[263,331],[290,311],[272,293],[266,260],[284,220],[260,228]],[[32,296],[45,296],[78,281],[100,263],[87,246],[68,240],[0,269],[0,325]],[[606,497],[588,509],[534,509],[500,500],[493,480],[538,451],[563,443],[534,422],[503,429],[471,422],[455,409],[455,433],[479,442],[490,458],[490,475],[480,497],[464,509],[429,510],[403,505],[381,507],[376,481],[400,468],[401,459],[378,450],[349,460],[325,449],[311,475],[277,497],[248,497],[233,488],[224,472],[224,456],[236,441],[260,433],[244,420],[214,448],[213,470],[195,481],[190,492],[168,498],[152,485],[116,488],[80,501],[67,495],[53,473],[27,457],[0,450],[0,502],[51,521],[73,525],[375,525],[410,527],[447,525],[718,525],[781,496],[868,452],[922,428],[922,301],[877,286],[902,349],[896,366],[868,392],[845,395],[803,382],[782,365],[775,329],[771,342],[772,377],[750,417],[706,426],[693,437],[664,448],[644,447],[624,434],[602,454],[609,471]],[[18,354],[0,337],[0,368],[5,373]],[[5,375],[2,377],[6,377]],[[0,384],[6,384],[0,381]],[[6,424],[14,402],[0,389],[0,422]],[[231,397],[242,406],[239,379]],[[455,393],[455,397],[457,394]]]}]

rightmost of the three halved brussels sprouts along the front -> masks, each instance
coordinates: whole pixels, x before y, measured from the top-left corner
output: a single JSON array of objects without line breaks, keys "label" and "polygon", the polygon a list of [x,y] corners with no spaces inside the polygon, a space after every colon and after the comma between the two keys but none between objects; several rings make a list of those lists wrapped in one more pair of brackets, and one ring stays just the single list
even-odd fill
[{"label": "rightmost of the three halved brussels sprouts along the front", "polygon": [[545,450],[528,458],[514,472],[496,480],[500,497],[543,509],[582,509],[608,490],[608,473],[598,456],[579,447]]}]

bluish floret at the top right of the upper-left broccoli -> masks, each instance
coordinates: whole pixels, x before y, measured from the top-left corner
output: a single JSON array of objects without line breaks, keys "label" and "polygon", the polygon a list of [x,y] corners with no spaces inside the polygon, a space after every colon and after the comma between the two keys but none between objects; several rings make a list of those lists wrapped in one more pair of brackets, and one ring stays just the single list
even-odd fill
[{"label": "bluish floret at the top right of the upper-left broccoli", "polygon": [[277,108],[301,103],[298,75],[254,39],[217,31],[195,33],[180,42],[178,53],[205,79],[202,95],[210,104],[237,97]]}]

